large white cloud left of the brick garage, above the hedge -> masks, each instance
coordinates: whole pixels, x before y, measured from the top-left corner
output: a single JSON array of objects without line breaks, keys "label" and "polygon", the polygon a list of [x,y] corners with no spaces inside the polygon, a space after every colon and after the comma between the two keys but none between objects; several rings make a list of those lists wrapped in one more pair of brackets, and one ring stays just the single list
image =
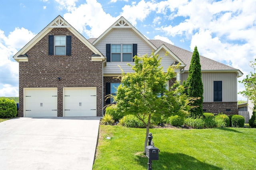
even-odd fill
[{"label": "large white cloud left of the brick garage, above the hedge", "polygon": [[0,30],[0,96],[18,96],[19,64],[12,57],[34,36],[24,28],[16,28],[8,37]]}]

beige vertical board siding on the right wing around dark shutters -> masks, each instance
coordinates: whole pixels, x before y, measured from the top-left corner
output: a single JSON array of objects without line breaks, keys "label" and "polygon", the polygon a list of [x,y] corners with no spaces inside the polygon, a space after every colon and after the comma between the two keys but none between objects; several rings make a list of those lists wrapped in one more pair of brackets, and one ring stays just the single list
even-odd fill
[{"label": "beige vertical board siding on the right wing around dark shutters", "polygon": [[[188,78],[188,72],[180,75],[181,84]],[[222,81],[222,102],[236,102],[237,101],[237,77],[236,73],[213,73],[202,72],[202,82],[204,85],[204,101],[213,102],[213,82]]]}]

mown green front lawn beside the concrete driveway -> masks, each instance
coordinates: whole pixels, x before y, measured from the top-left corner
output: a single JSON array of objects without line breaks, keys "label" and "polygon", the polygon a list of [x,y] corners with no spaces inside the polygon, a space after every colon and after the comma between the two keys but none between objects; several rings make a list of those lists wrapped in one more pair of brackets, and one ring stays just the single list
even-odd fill
[{"label": "mown green front lawn beside the concrete driveway", "polygon": [[[150,129],[154,170],[255,170],[256,129]],[[100,125],[93,170],[145,170],[146,129]],[[111,137],[111,139],[106,139]]]}]

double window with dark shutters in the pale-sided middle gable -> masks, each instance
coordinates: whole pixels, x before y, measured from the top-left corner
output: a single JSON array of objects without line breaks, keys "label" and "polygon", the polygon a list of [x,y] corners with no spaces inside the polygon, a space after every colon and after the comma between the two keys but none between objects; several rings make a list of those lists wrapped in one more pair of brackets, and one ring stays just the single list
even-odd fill
[{"label": "double window with dark shutters in the pale-sided middle gable", "polygon": [[107,62],[132,62],[137,44],[106,44]]}]

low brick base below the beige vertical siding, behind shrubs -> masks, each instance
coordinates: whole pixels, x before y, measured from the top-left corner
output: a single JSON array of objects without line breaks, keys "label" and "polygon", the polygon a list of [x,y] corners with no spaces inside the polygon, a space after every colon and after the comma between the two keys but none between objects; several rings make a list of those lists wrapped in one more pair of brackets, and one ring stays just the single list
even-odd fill
[{"label": "low brick base below the beige vertical siding, behind shrubs", "polygon": [[203,109],[208,113],[238,115],[237,102],[203,102]]}]

